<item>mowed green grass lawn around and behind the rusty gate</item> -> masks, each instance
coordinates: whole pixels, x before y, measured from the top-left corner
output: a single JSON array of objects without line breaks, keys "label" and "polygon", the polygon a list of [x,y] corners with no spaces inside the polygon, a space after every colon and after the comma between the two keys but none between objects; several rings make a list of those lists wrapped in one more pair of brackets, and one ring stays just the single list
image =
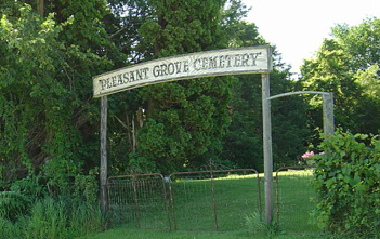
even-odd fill
[{"label": "mowed green grass lawn around and behind the rusty gate", "polygon": [[[318,235],[310,218],[314,207],[311,180],[312,172],[304,170],[279,172],[277,178],[274,174],[274,222],[278,222],[279,228],[275,238],[315,238]],[[119,199],[125,204],[118,203],[114,211],[123,210],[125,213],[117,213],[113,228],[87,238],[267,238],[268,229],[263,229],[264,224],[260,224],[259,218],[259,197],[262,220],[265,214],[263,186],[261,180],[259,190],[255,174],[217,175],[213,182],[199,175],[176,176],[171,184],[172,200],[168,197],[169,218],[166,201],[157,194],[139,196],[139,207],[133,203],[136,200]],[[120,218],[122,215],[128,220]],[[258,217],[253,223],[259,225],[249,227],[247,217],[252,215]]]}]

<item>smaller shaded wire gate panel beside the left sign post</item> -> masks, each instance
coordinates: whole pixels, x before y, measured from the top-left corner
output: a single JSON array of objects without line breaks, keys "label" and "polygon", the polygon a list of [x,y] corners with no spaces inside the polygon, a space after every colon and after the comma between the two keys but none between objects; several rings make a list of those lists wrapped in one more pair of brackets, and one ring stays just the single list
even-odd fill
[{"label": "smaller shaded wire gate panel beside the left sign post", "polygon": [[112,222],[139,229],[171,230],[168,194],[161,174],[108,178]]}]

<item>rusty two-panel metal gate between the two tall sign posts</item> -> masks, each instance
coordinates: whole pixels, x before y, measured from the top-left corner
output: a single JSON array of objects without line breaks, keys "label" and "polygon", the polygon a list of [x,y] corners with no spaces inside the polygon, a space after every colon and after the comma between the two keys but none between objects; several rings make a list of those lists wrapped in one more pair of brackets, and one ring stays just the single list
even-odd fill
[{"label": "rusty two-panel metal gate between the two tall sign posts", "polygon": [[261,215],[260,177],[253,169],[114,176],[108,202],[113,222],[127,227],[236,230],[245,215]]}]

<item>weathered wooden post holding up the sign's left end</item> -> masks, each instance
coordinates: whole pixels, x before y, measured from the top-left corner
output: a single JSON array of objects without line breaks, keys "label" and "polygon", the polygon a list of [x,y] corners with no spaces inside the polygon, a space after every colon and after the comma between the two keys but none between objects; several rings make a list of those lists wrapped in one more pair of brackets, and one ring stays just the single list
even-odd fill
[{"label": "weathered wooden post holding up the sign's left end", "polygon": [[101,98],[101,210],[107,214],[107,96]]}]

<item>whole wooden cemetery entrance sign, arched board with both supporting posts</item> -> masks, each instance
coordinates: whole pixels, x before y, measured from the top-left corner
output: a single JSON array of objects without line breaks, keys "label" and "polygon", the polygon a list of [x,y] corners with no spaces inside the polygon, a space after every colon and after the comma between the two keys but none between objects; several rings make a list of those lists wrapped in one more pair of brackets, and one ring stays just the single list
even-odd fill
[{"label": "whole wooden cemetery entrance sign, arched board with both supporting posts", "polygon": [[270,105],[272,53],[268,45],[224,49],[159,58],[93,78],[93,96],[101,97],[101,200],[107,211],[107,95],[149,84],[191,78],[262,74],[265,220],[273,216],[273,156]]}]

